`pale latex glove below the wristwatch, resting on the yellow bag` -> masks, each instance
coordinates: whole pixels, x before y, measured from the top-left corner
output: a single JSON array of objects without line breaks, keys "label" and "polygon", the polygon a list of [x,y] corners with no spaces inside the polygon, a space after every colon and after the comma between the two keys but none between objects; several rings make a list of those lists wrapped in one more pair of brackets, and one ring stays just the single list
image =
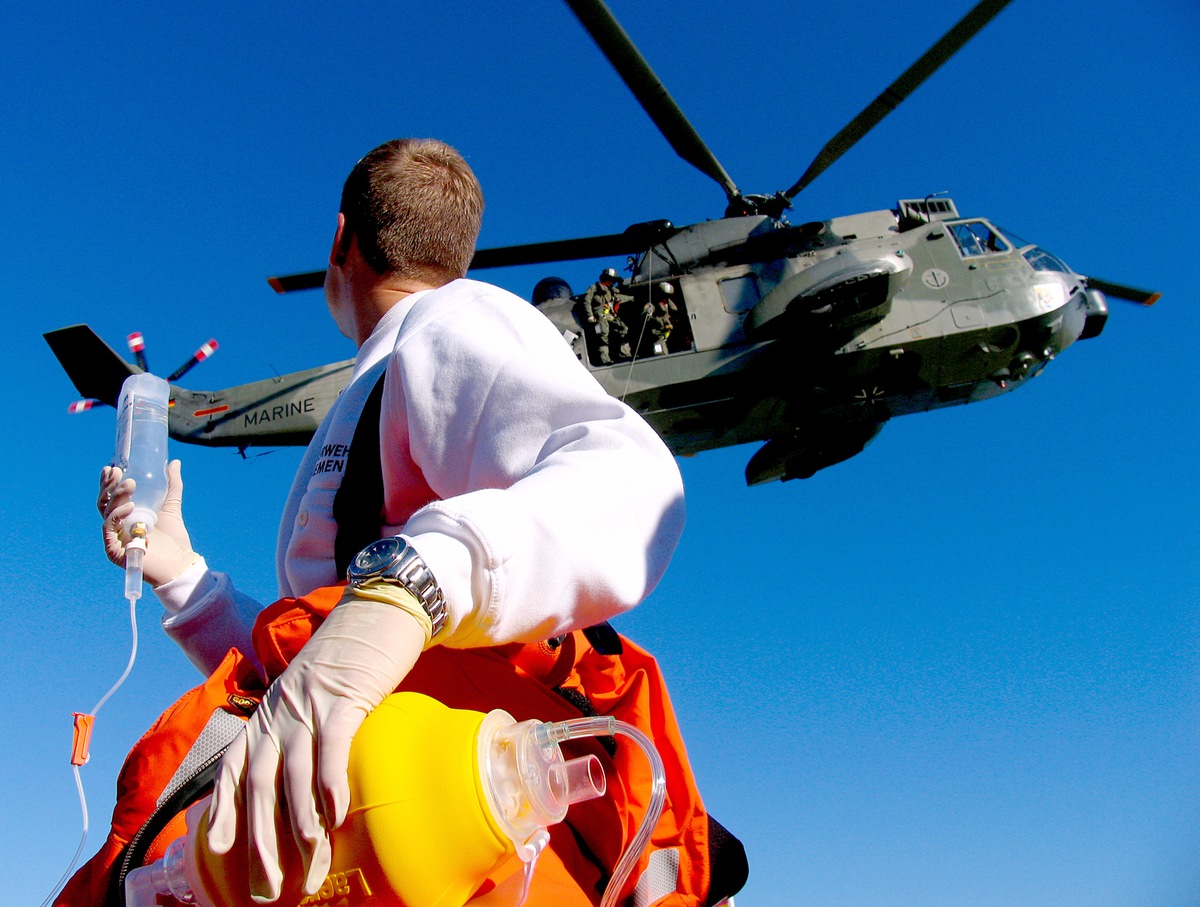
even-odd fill
[{"label": "pale latex glove below the wristwatch, resting on the yellow bag", "polygon": [[230,744],[209,812],[209,847],[229,852],[241,809],[250,890],[257,902],[275,901],[281,893],[280,793],[304,861],[305,894],[316,894],[325,881],[329,830],[342,824],[350,801],[346,776],[350,739],[412,669],[425,633],[401,608],[348,593]]}]

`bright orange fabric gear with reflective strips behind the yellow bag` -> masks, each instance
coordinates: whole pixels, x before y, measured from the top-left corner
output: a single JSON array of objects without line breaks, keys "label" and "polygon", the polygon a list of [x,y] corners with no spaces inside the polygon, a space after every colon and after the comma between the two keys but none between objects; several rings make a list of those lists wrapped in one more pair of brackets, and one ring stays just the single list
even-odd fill
[{"label": "bright orange fabric gear with reflective strips behind the yellow bag", "polygon": [[[265,608],[254,626],[254,649],[268,677],[277,677],[337,603],[342,587],[317,589],[300,599],[282,599]],[[634,893],[655,851],[668,852],[661,866],[678,864],[674,890],[652,889],[662,907],[701,907],[734,894],[745,881],[745,855],[737,839],[709,819],[688,763],[683,738],[659,666],[624,637],[618,654],[601,654],[582,631],[548,643],[487,649],[433,647],[418,660],[400,690],[422,692],[456,709],[504,709],[517,721],[559,721],[589,714],[612,715],[635,725],[655,743],[666,768],[662,817],[647,853],[622,894]],[[175,775],[209,717],[217,709],[245,717],[265,692],[253,667],[230,650],[200,686],[185,693],[151,726],[130,752],[118,777],[116,807],[108,837],[67,883],[55,905],[121,905],[118,873],[122,854],[156,800]],[[527,905],[584,907],[599,903],[612,867],[637,830],[650,795],[650,771],[634,745],[612,740],[574,740],[564,750],[593,752],[605,768],[605,797],[571,806],[566,821],[551,829],[551,843],[538,860]],[[162,857],[184,834],[175,816],[145,848],[144,863]],[[712,837],[712,840],[710,840]],[[714,858],[719,864],[714,872]],[[510,871],[510,870],[509,870]],[[715,882],[715,888],[714,888]],[[644,883],[643,883],[644,884]],[[521,873],[488,878],[470,903],[511,905]],[[720,889],[720,890],[716,890]],[[646,891],[642,893],[643,895]],[[661,896],[659,896],[661,895]]]}]

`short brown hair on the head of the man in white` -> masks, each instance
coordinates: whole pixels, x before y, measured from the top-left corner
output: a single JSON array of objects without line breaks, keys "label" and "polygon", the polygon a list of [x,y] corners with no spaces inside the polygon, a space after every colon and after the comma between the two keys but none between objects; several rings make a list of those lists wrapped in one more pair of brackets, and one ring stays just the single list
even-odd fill
[{"label": "short brown hair on the head of the man in white", "polygon": [[392,139],[359,161],[342,187],[344,242],[377,274],[433,286],[467,274],[484,192],[457,151],[436,139]]}]

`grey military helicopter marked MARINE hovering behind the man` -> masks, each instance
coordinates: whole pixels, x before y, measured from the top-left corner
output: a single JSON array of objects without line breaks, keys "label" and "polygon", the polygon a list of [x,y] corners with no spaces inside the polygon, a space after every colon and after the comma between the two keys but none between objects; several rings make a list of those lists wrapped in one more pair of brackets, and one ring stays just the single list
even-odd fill
[{"label": "grey military helicopter marked MARINE hovering behind the man", "polygon": [[[472,269],[628,257],[618,286],[626,301],[608,316],[628,337],[616,356],[598,342],[586,298],[564,281],[541,281],[533,302],[674,454],[755,442],[749,483],[809,477],[860,452],[892,416],[1021,386],[1076,340],[1099,335],[1106,296],[1158,299],[1080,275],[985,217],[960,216],[941,194],[799,226],[785,217],[1009,0],[982,0],[794,185],[769,196],[738,190],[604,2],[566,2],[674,151],[721,186],[724,216],[480,250]],[[323,281],[312,271],[269,282],[290,293]],[[46,338],[85,397],[114,403],[134,371],[85,325]],[[211,392],[173,386],[172,436],[242,452],[306,444],[352,368],[346,360]]]}]

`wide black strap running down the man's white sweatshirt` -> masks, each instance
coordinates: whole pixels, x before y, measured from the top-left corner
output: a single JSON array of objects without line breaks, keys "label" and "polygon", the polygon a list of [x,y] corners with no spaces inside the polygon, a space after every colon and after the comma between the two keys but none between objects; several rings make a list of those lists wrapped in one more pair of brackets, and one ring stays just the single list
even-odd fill
[{"label": "wide black strap running down the man's white sweatshirt", "polygon": [[[386,374],[386,372],[384,372]],[[379,457],[379,414],[383,409],[383,379],[379,376],[362,404],[359,424],[354,427],[350,449],[346,452],[342,485],[334,495],[334,564],[337,576],[344,577],[350,560],[362,548],[379,537],[383,524],[383,461]],[[356,456],[359,451],[370,451]]]}]

